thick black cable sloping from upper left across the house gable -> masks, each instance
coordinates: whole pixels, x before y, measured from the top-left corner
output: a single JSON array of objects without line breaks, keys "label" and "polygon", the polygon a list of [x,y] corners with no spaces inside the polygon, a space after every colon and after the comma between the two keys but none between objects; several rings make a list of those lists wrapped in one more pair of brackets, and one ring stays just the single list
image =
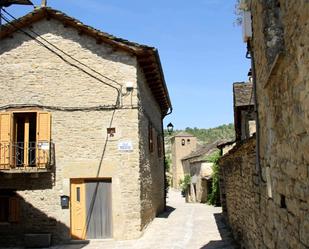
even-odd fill
[{"label": "thick black cable sloping from upper left across the house gable", "polygon": [[18,31],[20,31],[21,33],[23,33],[24,35],[26,35],[26,36],[30,37],[31,39],[33,39],[36,43],[38,43],[39,45],[43,46],[44,48],[46,48],[47,50],[49,50],[50,52],[52,52],[53,54],[55,54],[56,56],[58,56],[61,60],[63,60],[64,62],[66,62],[66,63],[69,64],[70,66],[75,67],[76,69],[78,69],[78,70],[80,70],[81,72],[87,74],[88,76],[90,76],[90,77],[96,79],[97,81],[99,81],[99,82],[101,82],[101,83],[103,83],[103,84],[105,84],[105,85],[107,85],[107,86],[109,86],[109,87],[115,89],[115,90],[117,91],[116,106],[119,107],[119,104],[120,104],[120,95],[121,95],[121,93],[120,93],[120,90],[119,90],[117,87],[115,87],[115,86],[113,86],[113,85],[111,85],[111,84],[109,84],[109,83],[107,83],[107,82],[105,82],[105,81],[99,79],[97,76],[92,75],[91,73],[87,72],[85,69],[83,69],[83,68],[81,68],[81,67],[79,67],[79,66],[77,66],[77,65],[75,65],[75,64],[73,64],[73,63],[71,63],[70,61],[68,61],[67,59],[65,59],[62,55],[58,54],[58,53],[55,52],[53,49],[51,49],[50,47],[48,47],[46,44],[44,44],[44,43],[41,42],[40,40],[36,39],[36,37],[32,36],[32,35],[29,34],[28,32],[24,31],[23,29],[17,27],[17,26],[14,25],[13,23],[11,23],[10,20],[8,20],[4,15],[1,15],[1,18],[2,18],[4,21],[6,21],[9,25],[13,26],[15,29],[17,29]]}]

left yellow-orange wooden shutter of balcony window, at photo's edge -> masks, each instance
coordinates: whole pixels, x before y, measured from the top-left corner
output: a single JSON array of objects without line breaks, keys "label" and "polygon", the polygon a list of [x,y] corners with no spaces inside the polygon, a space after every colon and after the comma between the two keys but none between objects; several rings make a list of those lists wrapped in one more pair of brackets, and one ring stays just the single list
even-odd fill
[{"label": "left yellow-orange wooden shutter of balcony window, at photo's edge", "polygon": [[10,168],[12,113],[0,113],[0,169]]}]

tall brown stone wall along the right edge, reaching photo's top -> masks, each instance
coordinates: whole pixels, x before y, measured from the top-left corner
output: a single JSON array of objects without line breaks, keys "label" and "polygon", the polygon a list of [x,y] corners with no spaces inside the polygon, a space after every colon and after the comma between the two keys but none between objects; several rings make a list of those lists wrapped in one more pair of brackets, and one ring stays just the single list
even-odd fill
[{"label": "tall brown stone wall along the right edge, reaching photo's top", "polygon": [[309,247],[309,2],[252,1],[251,11],[259,157],[274,220],[263,235],[281,237],[277,248]]}]

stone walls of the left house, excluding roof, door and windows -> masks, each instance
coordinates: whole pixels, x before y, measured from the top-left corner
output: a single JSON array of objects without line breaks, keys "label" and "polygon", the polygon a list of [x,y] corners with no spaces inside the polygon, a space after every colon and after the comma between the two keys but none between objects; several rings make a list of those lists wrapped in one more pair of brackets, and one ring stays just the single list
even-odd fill
[{"label": "stone walls of the left house, excluding roof, door and windows", "polygon": [[[46,106],[51,113],[51,138],[55,165],[51,173],[0,175],[0,189],[13,189],[21,198],[20,222],[0,224],[0,244],[21,242],[24,233],[47,232],[54,243],[70,239],[70,209],[62,209],[60,196],[70,196],[70,180],[106,178],[112,181],[114,239],[132,239],[164,209],[164,163],[160,139],[148,150],[148,129],[163,138],[160,106],[146,83],[137,57],[114,46],[98,43],[54,19],[43,19],[24,30],[40,37],[97,71],[96,77],[122,85],[119,108],[65,111],[49,107],[87,108],[114,106],[115,88],[70,66],[20,32],[1,40],[2,111],[22,110],[23,105]],[[75,63],[66,57],[71,63]],[[89,69],[83,67],[89,72]],[[125,83],[133,91],[125,91]],[[5,109],[17,105],[15,109]],[[31,109],[31,108],[30,108]],[[113,137],[107,128],[115,127]],[[118,144],[130,141],[122,152]],[[13,243],[14,242],[14,243]]]}]

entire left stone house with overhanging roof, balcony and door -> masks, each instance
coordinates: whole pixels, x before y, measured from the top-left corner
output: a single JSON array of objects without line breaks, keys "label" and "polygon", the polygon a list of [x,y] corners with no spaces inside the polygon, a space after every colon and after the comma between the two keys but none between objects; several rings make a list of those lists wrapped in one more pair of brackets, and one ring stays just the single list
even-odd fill
[{"label": "entire left stone house with overhanging roof, balcony and door", "polygon": [[158,51],[51,8],[0,42],[0,245],[139,237],[165,207]]}]

